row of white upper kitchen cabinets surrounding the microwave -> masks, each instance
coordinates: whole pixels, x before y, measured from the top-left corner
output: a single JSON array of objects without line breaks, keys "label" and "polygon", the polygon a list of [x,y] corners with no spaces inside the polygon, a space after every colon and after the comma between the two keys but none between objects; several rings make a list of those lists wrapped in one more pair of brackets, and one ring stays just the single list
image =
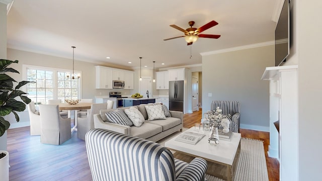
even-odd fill
[{"label": "row of white upper kitchen cabinets surrounding the microwave", "polygon": [[113,80],[124,80],[124,89],[134,88],[134,72],[104,66],[96,66],[96,88],[113,88]]}]

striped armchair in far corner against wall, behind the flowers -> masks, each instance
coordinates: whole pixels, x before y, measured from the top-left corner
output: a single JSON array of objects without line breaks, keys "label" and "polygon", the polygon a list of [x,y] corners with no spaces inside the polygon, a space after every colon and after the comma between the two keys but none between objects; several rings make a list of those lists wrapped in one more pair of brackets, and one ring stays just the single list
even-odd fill
[{"label": "striped armchair in far corner against wall, behind the flowers", "polygon": [[[229,118],[230,125],[229,130],[235,133],[239,133],[240,126],[240,104],[238,101],[212,101],[211,110],[216,111],[216,108],[219,107],[222,112],[222,115],[230,114],[232,117]],[[220,129],[220,127],[219,127]]]}]

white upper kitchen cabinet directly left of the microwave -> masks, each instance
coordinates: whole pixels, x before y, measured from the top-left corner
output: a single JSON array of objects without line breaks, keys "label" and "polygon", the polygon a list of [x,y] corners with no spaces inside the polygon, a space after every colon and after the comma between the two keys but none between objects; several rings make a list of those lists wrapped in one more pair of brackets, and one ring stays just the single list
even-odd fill
[{"label": "white upper kitchen cabinet directly left of the microwave", "polygon": [[111,68],[96,66],[96,88],[113,88]]}]

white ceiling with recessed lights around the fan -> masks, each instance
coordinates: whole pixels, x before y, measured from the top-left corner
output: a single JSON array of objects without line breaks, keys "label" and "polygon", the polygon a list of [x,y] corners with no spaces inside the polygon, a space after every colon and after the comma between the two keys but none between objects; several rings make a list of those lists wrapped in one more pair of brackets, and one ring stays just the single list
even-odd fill
[{"label": "white ceiling with recessed lights around the fan", "polygon": [[[156,61],[156,68],[199,64],[202,52],[274,40],[277,1],[15,0],[8,14],[8,48],[71,59],[75,46],[75,60],[128,67],[139,67],[138,57],[142,66]],[[192,58],[184,38],[163,41],[184,35],[171,24],[187,29],[195,21],[199,28],[212,20],[219,24],[203,34],[221,37],[199,38]]]}]

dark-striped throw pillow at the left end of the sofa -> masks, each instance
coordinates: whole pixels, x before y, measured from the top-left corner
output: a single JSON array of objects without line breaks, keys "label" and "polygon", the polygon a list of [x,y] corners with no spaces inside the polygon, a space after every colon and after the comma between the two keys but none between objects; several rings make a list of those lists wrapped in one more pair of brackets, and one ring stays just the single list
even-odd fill
[{"label": "dark-striped throw pillow at the left end of the sofa", "polygon": [[108,113],[105,113],[107,119],[116,124],[126,125],[126,126],[132,126],[132,121],[126,116],[124,110],[117,109],[115,111],[111,111]]}]

